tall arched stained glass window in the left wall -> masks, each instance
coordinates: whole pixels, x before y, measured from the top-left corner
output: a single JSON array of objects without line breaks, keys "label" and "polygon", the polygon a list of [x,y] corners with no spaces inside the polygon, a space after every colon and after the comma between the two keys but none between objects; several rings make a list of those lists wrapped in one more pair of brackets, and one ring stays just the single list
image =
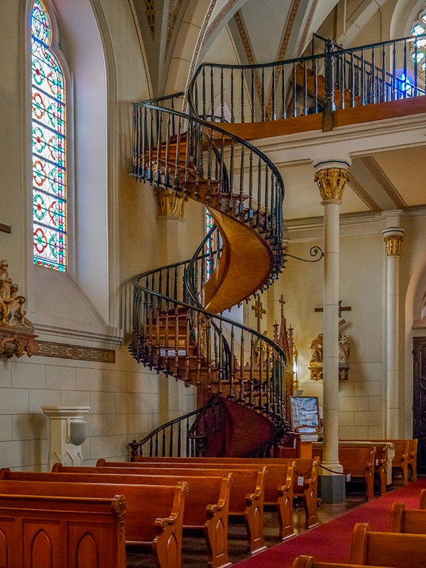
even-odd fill
[{"label": "tall arched stained glass window in the left wall", "polygon": [[31,14],[34,263],[67,268],[65,83],[43,0]]}]

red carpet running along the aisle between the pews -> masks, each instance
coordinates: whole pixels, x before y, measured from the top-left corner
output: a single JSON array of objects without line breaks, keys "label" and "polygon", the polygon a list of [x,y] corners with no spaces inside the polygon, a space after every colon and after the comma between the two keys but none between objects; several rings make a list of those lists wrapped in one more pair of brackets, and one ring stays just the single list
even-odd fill
[{"label": "red carpet running along the aisle between the pews", "polygon": [[419,507],[420,490],[426,479],[417,479],[405,487],[390,491],[339,517],[312,528],[288,542],[243,560],[238,568],[290,568],[298,555],[312,555],[321,562],[349,562],[351,535],[356,523],[370,523],[373,530],[388,530],[392,503],[405,503],[410,509]]}]

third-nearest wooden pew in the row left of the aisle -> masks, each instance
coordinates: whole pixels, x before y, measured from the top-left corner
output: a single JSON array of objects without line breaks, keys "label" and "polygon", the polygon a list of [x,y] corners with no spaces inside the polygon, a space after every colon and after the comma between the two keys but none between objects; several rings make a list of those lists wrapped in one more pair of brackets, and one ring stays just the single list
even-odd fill
[{"label": "third-nearest wooden pew in the row left of the aisle", "polygon": [[[63,467],[63,466],[62,466]],[[66,469],[66,468],[64,468]],[[105,472],[104,470],[109,470]],[[75,467],[72,472],[60,471],[55,464],[54,473],[35,471],[0,470],[1,480],[11,481],[58,481],[60,483],[84,484],[139,484],[176,486],[182,476],[117,474],[114,468]],[[112,470],[112,471],[111,471]],[[188,530],[202,530],[207,545],[207,566],[229,566],[228,555],[228,510],[232,474],[222,477],[185,476],[189,491],[185,496],[182,525]]]}]

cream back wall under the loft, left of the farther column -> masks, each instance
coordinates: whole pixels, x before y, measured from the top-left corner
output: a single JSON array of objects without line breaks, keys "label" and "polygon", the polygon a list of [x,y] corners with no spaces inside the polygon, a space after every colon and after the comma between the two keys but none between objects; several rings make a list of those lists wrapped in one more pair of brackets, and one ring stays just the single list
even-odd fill
[{"label": "cream back wall under the loft, left of the farther column", "polygon": [[[308,258],[311,246],[322,246],[322,229],[309,239],[297,241],[290,231],[288,252]],[[316,236],[315,236],[316,235]],[[341,330],[350,339],[348,381],[339,383],[339,437],[374,438],[384,435],[385,359],[384,245],[381,224],[351,224],[341,227],[340,299],[351,311],[342,312]],[[305,396],[318,396],[322,381],[311,381],[309,361],[312,339],[322,332],[323,262],[304,263],[288,258],[285,271],[268,293],[268,329],[279,321],[278,300],[283,294],[288,327],[294,328],[299,351],[300,389]],[[272,295],[272,298],[271,298]],[[273,317],[271,317],[271,312]]]}]

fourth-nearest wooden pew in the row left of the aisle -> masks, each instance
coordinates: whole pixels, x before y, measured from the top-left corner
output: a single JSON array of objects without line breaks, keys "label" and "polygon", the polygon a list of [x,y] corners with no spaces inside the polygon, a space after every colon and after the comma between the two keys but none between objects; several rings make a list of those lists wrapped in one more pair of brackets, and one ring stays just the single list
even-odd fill
[{"label": "fourth-nearest wooden pew in the row left of the aisle", "polygon": [[[173,464],[173,467],[161,462],[151,462],[150,464],[138,464],[142,467],[134,467],[132,471],[141,475],[160,476],[181,476],[186,479],[191,475],[207,475],[207,476],[223,476],[224,471],[233,474],[233,484],[231,488],[231,497],[229,499],[229,516],[236,520],[243,517],[244,525],[247,533],[247,551],[253,555],[261,550],[265,550],[265,542],[263,537],[263,500],[265,494],[265,476],[266,466],[261,464],[253,464],[253,467],[243,469],[237,468],[234,464],[229,464],[226,468],[214,468],[212,464]],[[64,466],[53,466],[54,471],[72,472],[74,468],[66,468]],[[117,467],[117,473],[126,474],[129,468]],[[81,471],[81,468],[75,471]]]}]

